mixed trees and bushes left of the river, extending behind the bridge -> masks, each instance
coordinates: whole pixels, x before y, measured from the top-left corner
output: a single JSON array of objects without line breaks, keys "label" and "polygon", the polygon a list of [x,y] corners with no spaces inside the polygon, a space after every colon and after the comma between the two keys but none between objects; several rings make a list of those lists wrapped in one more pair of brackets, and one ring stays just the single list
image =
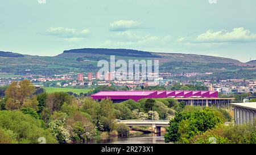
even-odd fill
[{"label": "mixed trees and bushes left of the river, extending behind the bridge", "polygon": [[171,98],[111,100],[76,98],[68,93],[46,93],[28,80],[15,81],[0,100],[0,143],[86,143],[104,133],[127,135],[129,128],[117,119],[172,119],[182,109]]}]

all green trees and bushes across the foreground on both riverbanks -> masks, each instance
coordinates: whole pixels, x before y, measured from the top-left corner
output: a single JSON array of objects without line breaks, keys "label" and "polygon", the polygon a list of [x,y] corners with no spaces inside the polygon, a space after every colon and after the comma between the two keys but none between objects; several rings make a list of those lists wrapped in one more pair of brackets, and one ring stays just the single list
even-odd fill
[{"label": "all green trees and bushes across the foreground on both riverbanks", "polygon": [[[223,126],[232,121],[228,111],[214,107],[185,106],[172,98],[144,98],[113,104],[111,100],[75,98],[64,92],[35,94],[29,81],[5,88],[0,99],[0,143],[86,143],[102,132],[129,134],[117,119],[168,119],[166,142],[255,143],[255,124]],[[115,87],[98,87],[116,89]]]}]

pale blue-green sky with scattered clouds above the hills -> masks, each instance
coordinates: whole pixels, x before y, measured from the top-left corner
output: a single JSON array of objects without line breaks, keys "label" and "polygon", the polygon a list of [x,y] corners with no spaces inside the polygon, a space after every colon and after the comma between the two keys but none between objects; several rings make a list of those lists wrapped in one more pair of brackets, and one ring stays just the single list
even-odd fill
[{"label": "pale blue-green sky with scattered clouds above the hills", "polygon": [[256,59],[255,0],[1,0],[0,51],[123,48]]}]

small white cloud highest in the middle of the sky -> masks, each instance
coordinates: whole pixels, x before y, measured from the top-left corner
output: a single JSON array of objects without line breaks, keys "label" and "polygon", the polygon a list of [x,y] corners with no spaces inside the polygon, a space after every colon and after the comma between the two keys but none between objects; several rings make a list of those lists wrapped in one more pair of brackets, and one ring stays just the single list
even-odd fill
[{"label": "small white cloud highest in the middle of the sky", "polygon": [[141,22],[134,20],[118,20],[109,25],[110,31],[127,31],[141,28]]}]

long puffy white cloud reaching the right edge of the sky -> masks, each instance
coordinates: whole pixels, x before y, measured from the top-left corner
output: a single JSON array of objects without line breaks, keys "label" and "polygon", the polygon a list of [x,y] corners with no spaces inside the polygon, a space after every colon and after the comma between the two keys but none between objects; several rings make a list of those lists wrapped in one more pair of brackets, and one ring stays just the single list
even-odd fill
[{"label": "long puffy white cloud reaching the right edge of the sky", "polygon": [[256,34],[251,33],[249,30],[240,27],[234,28],[232,31],[211,31],[197,37],[181,37],[177,42],[191,42],[191,43],[231,43],[231,42],[256,42]]}]

